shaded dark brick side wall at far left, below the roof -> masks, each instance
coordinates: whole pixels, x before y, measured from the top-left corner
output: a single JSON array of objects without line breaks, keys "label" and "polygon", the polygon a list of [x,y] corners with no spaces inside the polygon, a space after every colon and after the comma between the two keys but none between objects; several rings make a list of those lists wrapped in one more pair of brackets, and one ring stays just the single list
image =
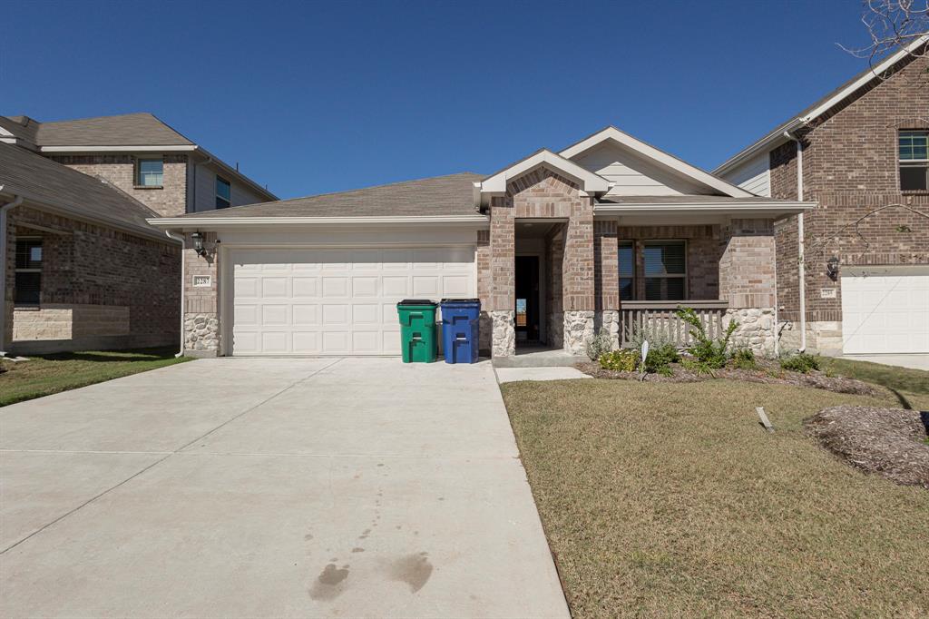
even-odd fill
[{"label": "shaded dark brick side wall at far left, below the roof", "polygon": [[[7,234],[8,349],[143,348],[177,343],[178,244],[27,205],[8,213]],[[42,239],[37,308],[13,307],[18,236]]]}]

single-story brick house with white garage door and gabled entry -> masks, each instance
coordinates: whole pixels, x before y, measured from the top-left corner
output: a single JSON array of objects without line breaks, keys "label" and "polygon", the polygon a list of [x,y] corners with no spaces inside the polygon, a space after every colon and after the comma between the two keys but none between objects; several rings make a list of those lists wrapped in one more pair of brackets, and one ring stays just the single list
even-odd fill
[{"label": "single-story brick house with white garage door and gabled entry", "polygon": [[150,219],[187,239],[194,355],[396,355],[404,297],[479,297],[481,349],[582,354],[681,303],[776,348],[773,224],[758,197],[615,127],[490,176],[454,174]]}]

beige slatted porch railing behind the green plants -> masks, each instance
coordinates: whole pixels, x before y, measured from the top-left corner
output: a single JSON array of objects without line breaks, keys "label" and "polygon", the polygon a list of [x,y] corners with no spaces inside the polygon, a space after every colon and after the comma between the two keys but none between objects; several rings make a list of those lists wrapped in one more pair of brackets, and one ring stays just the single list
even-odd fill
[{"label": "beige slatted porch railing behind the green plants", "polygon": [[708,336],[724,334],[723,316],[729,307],[726,301],[622,301],[620,345],[631,346],[635,331],[646,329],[652,336],[663,337],[677,347],[688,346],[693,338],[687,323],[674,313],[678,306],[696,311]]}]

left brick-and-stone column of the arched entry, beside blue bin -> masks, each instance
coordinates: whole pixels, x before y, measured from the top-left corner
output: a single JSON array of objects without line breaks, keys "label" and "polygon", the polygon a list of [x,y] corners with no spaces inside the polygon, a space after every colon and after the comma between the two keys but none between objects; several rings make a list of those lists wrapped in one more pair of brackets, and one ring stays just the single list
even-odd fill
[{"label": "left brick-and-stone column of the arched entry, beside blue bin", "polygon": [[491,355],[516,354],[516,228],[508,196],[491,198]]}]

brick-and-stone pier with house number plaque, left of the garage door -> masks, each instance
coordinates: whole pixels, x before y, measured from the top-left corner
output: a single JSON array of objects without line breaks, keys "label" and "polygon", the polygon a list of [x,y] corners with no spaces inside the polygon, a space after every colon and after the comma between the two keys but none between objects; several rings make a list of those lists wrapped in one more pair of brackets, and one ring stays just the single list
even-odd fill
[{"label": "brick-and-stone pier with house number plaque, left of the garage door", "polygon": [[[193,242],[185,235],[184,250],[184,349],[191,357],[219,354],[219,254],[199,257],[190,249]],[[203,244],[213,247],[216,232],[205,232]],[[209,277],[209,285],[194,285],[195,277]]]}]

